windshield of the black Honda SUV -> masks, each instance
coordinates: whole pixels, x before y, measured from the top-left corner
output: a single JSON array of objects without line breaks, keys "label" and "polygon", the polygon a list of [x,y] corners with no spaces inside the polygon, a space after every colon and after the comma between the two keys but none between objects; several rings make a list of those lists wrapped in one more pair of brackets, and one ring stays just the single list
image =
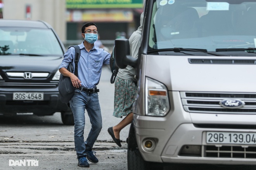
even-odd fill
[{"label": "windshield of the black Honda SUV", "polygon": [[63,55],[51,29],[0,27],[0,55]]}]

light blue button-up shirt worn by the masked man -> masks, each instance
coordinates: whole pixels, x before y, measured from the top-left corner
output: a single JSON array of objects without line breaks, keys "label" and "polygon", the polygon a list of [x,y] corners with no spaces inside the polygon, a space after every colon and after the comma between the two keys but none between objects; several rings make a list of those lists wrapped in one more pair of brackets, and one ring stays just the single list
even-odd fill
[{"label": "light blue button-up shirt worn by the masked man", "polygon": [[[81,56],[78,61],[78,78],[81,81],[81,86],[85,88],[95,88],[99,84],[102,66],[109,64],[111,54],[104,51],[102,48],[93,46],[88,52],[85,49],[83,42],[78,45],[81,50]],[[67,68],[71,61],[74,61],[75,49],[69,48],[64,54],[60,68]],[[73,62],[73,68],[75,63]],[[74,71],[73,71],[74,73]]]}]

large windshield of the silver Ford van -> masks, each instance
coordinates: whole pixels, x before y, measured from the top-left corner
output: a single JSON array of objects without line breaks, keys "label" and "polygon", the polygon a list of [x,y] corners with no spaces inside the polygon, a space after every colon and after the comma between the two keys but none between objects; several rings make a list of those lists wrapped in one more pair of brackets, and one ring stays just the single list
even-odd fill
[{"label": "large windshield of the silver Ford van", "polygon": [[255,18],[256,1],[252,0],[155,0],[149,49],[221,53],[250,49],[255,56]]}]

